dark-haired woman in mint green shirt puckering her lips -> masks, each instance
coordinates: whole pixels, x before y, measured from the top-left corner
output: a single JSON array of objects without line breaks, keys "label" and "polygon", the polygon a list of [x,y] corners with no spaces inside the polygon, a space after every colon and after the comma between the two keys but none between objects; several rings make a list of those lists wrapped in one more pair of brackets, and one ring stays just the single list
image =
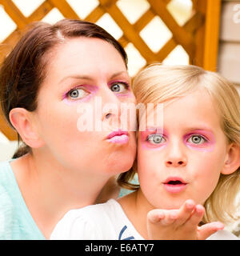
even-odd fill
[{"label": "dark-haired woman in mint green shirt puckering her lips", "polygon": [[[133,165],[134,131],[114,133],[121,103],[135,102],[126,62],[110,34],[77,20],[35,24],[7,56],[2,111],[26,146],[0,167],[1,238],[49,238],[67,210],[94,204]],[[97,112],[97,98],[119,115],[101,112],[105,129],[82,131],[79,106]]]}]

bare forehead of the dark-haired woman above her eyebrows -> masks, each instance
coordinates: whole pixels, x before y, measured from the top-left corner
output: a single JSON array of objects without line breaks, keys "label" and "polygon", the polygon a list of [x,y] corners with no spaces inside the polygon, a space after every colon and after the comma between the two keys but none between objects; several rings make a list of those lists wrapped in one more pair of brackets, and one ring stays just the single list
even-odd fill
[{"label": "bare forehead of the dark-haired woman above her eyebrows", "polygon": [[122,55],[109,42],[99,38],[72,38],[50,52],[46,79],[61,81],[68,76],[94,78],[99,74],[127,74]]}]

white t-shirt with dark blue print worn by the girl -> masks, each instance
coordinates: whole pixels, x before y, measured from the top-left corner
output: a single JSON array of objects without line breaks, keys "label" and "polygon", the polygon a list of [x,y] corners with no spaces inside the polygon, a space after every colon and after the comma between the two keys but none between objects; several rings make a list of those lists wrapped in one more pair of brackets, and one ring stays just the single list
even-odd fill
[{"label": "white t-shirt with dark blue print worn by the girl", "polygon": [[[126,217],[122,206],[110,199],[106,203],[70,210],[65,214],[53,233],[51,240],[143,240]],[[209,240],[239,239],[229,231],[220,230]]]}]

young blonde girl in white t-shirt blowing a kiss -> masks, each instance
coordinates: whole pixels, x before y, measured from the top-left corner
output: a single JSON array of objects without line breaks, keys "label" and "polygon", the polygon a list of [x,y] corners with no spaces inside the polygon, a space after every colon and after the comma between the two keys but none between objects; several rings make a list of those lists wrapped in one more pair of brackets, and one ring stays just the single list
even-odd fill
[{"label": "young blonde girl in white t-shirt blowing a kiss", "polygon": [[[138,103],[154,103],[154,113],[139,115],[137,167],[118,178],[134,193],[71,210],[52,239],[205,239],[236,218],[240,98],[234,86],[197,66],[156,64],[138,74],[133,90]],[[155,124],[158,104],[163,122]],[[129,183],[135,171],[140,187]],[[222,230],[211,238],[236,237]]]}]

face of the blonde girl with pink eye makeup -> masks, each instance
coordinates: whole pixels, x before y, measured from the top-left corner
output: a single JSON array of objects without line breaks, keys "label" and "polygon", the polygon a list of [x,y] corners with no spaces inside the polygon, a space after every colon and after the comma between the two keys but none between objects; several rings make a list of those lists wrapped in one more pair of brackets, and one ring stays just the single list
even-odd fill
[{"label": "face of the blonde girl with pink eye makeup", "polygon": [[[227,157],[226,137],[212,99],[197,91],[163,105],[163,126],[138,134],[140,193],[150,207],[203,204]],[[154,127],[157,128],[157,127]]]}]

